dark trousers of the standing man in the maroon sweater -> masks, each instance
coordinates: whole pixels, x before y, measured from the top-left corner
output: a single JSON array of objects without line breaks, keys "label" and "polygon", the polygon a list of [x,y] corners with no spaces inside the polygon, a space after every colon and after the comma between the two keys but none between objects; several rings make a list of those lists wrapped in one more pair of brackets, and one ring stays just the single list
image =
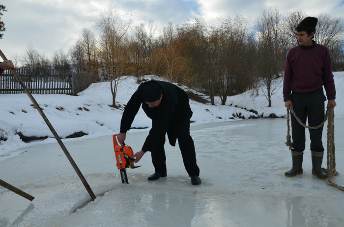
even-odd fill
[{"label": "dark trousers of the standing man in the maroon sweater", "polygon": [[[306,124],[308,119],[308,126],[318,126],[324,120],[324,102],[326,97],[322,89],[310,93],[292,93],[290,99],[294,106],[294,112],[303,124]],[[291,128],[291,151],[304,151],[306,143],[305,127],[301,126],[293,115],[291,115]],[[322,146],[322,129],[323,126],[318,129],[309,129],[311,151],[324,151]]]}]

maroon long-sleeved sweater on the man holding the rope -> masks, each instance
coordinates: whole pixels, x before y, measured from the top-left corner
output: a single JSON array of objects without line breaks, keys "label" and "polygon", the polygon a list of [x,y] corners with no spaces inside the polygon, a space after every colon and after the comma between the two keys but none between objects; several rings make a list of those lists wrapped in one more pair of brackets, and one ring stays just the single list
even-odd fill
[{"label": "maroon long-sleeved sweater on the man holding the rope", "polygon": [[324,86],[328,100],[336,99],[336,88],[332,74],[328,49],[320,44],[312,47],[297,46],[288,51],[284,72],[283,97],[290,93],[308,93]]}]

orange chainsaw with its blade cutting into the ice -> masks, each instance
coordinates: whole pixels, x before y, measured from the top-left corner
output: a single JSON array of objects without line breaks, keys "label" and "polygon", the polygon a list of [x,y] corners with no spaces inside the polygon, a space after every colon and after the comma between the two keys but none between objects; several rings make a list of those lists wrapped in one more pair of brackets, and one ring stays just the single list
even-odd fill
[{"label": "orange chainsaw with its blade cutting into the ice", "polygon": [[132,158],[134,155],[133,149],[130,146],[125,146],[124,142],[119,144],[117,141],[118,134],[113,135],[115,156],[117,161],[117,167],[122,179],[123,184],[129,184],[126,168],[135,169],[140,166],[134,166],[135,158]]}]

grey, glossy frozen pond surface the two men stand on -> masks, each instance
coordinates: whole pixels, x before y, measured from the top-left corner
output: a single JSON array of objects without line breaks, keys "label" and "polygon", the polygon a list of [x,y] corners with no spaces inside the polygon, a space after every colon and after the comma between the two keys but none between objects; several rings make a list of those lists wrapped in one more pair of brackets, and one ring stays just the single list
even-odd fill
[{"label": "grey, glossy frozen pond surface the two men stand on", "polygon": [[[34,196],[30,202],[0,187],[1,227],[343,227],[344,192],[312,176],[309,140],[303,175],[291,168],[286,119],[192,126],[202,184],[191,185],[178,147],[166,143],[168,176],[154,172],[147,153],[121,183],[112,136],[64,140],[97,195],[94,202],[57,143],[31,143],[0,162],[0,178]],[[335,119],[337,171],[344,185],[344,120]],[[139,151],[147,132],[127,134]],[[307,132],[308,135],[308,132]],[[326,125],[323,144],[326,149]],[[325,151],[326,152],[326,151]],[[324,157],[323,167],[326,167]]]}]

